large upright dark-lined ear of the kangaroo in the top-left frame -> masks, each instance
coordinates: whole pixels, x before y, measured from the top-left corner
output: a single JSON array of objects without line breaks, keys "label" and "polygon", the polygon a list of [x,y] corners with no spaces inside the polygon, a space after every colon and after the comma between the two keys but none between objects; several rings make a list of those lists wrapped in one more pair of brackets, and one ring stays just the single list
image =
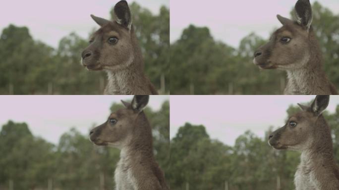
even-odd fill
[{"label": "large upright dark-lined ear of the kangaroo in the top-left frame", "polygon": [[115,21],[119,25],[131,30],[132,16],[128,4],[125,0],[120,0],[114,6]]}]

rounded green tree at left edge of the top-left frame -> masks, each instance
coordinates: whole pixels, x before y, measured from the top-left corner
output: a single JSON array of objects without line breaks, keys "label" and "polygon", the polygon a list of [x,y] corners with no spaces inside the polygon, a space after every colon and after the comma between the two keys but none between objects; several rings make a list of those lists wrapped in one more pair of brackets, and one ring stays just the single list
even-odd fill
[{"label": "rounded green tree at left edge of the top-left frame", "polygon": [[0,37],[0,93],[47,94],[53,48],[34,41],[28,28],[9,25]]}]

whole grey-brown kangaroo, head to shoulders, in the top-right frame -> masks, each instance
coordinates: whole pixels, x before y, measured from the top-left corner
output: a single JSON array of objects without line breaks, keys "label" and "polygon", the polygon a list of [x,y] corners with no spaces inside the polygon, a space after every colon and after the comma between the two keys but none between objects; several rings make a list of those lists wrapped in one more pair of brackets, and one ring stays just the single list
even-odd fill
[{"label": "whole grey-brown kangaroo, head to shoulders, in the top-right frame", "polygon": [[296,22],[277,15],[282,27],[254,52],[253,63],[261,69],[285,70],[285,95],[338,95],[322,69],[322,52],[311,26],[310,1],[298,0],[294,12]]}]

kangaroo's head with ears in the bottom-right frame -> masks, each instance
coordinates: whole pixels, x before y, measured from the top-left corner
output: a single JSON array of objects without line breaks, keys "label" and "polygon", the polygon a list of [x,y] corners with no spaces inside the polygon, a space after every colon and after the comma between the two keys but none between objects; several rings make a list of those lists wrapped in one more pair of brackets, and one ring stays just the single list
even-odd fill
[{"label": "kangaroo's head with ears in the bottom-right frame", "polygon": [[298,104],[302,111],[290,116],[286,124],[269,136],[269,144],[276,149],[305,150],[310,148],[316,134],[326,130],[322,112],[330,101],[329,95],[317,95],[311,106]]}]

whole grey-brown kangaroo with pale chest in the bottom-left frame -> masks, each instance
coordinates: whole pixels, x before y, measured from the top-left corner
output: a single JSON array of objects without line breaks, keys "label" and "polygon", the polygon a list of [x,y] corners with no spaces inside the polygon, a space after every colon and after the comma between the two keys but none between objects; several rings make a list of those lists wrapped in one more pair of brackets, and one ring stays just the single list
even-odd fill
[{"label": "whole grey-brown kangaroo with pale chest in the bottom-left frame", "polygon": [[125,108],[113,112],[107,121],[90,132],[97,145],[119,148],[115,190],[169,190],[163,171],[153,154],[152,129],[142,111],[149,95],[135,95]]}]

